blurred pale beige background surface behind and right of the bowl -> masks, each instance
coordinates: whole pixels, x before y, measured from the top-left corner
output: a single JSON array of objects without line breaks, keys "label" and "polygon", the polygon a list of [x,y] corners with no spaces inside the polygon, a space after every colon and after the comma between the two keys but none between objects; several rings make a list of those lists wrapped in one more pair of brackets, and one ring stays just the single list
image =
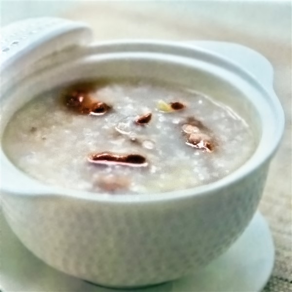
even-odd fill
[{"label": "blurred pale beige background surface behind and right of the bowl", "polygon": [[292,291],[291,1],[1,0],[1,26],[58,16],[91,25],[95,40],[160,38],[236,42],[260,52],[274,67],[274,89],[286,115],[280,149],[260,205],[274,236],[276,262],[265,292]]}]

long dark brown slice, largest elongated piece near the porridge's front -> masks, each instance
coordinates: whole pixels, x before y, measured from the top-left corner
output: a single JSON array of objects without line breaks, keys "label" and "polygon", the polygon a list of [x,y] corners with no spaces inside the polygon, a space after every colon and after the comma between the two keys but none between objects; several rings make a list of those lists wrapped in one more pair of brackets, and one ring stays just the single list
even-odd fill
[{"label": "long dark brown slice, largest elongated piece near the porridge's front", "polygon": [[88,161],[93,164],[125,165],[131,167],[145,167],[148,165],[146,158],[140,154],[117,154],[112,152],[90,154]]}]

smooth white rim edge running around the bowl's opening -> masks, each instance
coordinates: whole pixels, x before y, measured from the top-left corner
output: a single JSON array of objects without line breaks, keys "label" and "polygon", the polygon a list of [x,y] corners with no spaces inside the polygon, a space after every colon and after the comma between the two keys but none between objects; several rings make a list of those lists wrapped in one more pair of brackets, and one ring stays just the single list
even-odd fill
[{"label": "smooth white rim edge running around the bowl's opening", "polygon": [[[213,42],[216,43],[216,42]],[[220,43],[220,42],[218,42]],[[229,175],[223,177],[222,179],[219,179],[218,181],[215,181],[213,183],[208,183],[201,186],[196,186],[192,188],[182,189],[182,190],[175,190],[175,191],[167,191],[162,193],[150,193],[150,194],[106,194],[106,193],[94,193],[90,191],[83,191],[83,190],[75,190],[75,189],[69,189],[65,187],[58,187],[54,185],[49,185],[46,183],[42,183],[34,178],[31,178],[29,175],[24,173],[27,177],[30,177],[32,183],[37,183],[38,185],[41,185],[42,187],[34,187],[31,188],[30,191],[23,191],[23,192],[15,192],[11,191],[11,188],[7,188],[5,190],[5,187],[2,187],[1,184],[1,191],[4,191],[9,194],[18,195],[18,196],[30,196],[30,197],[68,197],[71,199],[81,199],[81,200],[90,200],[90,201],[98,201],[98,202],[104,202],[104,203],[140,203],[140,202],[158,202],[158,201],[165,201],[165,200],[177,200],[177,199],[183,199],[183,198],[189,198],[189,197],[198,197],[198,196],[204,196],[206,194],[214,194],[217,191],[219,191],[222,188],[228,187],[229,185],[235,184],[238,181],[246,178],[249,174],[253,173],[257,168],[259,168],[261,165],[267,163],[270,161],[272,156],[274,155],[277,146],[280,143],[281,137],[284,132],[284,113],[283,109],[281,107],[281,104],[274,93],[273,90],[273,84],[271,84],[271,88],[268,87],[268,85],[263,85],[257,81],[255,76],[248,72],[243,66],[238,64],[237,62],[234,62],[231,58],[227,58],[224,55],[220,55],[220,53],[217,53],[214,49],[206,49],[201,48],[200,44],[190,44],[186,42],[178,42],[178,41],[158,41],[158,40],[111,40],[111,41],[104,41],[104,42],[98,42],[91,44],[89,47],[85,47],[85,50],[83,50],[82,55],[91,55],[96,54],[96,50],[99,50],[100,48],[107,48],[107,47],[117,47],[120,48],[120,46],[162,46],[162,48],[168,47],[168,48],[176,48],[176,49],[187,49],[191,50],[193,52],[197,52],[200,54],[203,54],[207,57],[211,57],[211,59],[215,59],[219,62],[220,65],[225,65],[232,70],[235,70],[237,73],[241,73],[250,83],[253,83],[254,86],[260,91],[262,91],[265,95],[269,96],[270,102],[273,103],[271,107],[273,107],[273,111],[275,112],[276,118],[274,118],[274,123],[278,129],[276,136],[274,137],[274,140],[272,141],[272,144],[269,145],[269,149],[266,150],[265,155],[261,155],[261,157],[256,157],[255,152],[254,154],[241,166],[239,166],[235,171],[231,172]],[[257,53],[258,54],[258,53]],[[259,54],[260,55],[260,54]],[[261,55],[260,55],[261,56]],[[270,63],[269,63],[270,64]],[[271,67],[272,68],[272,67]],[[255,109],[258,111],[258,108],[255,107]],[[262,125],[264,127],[264,125]],[[260,138],[261,141],[262,138]],[[259,141],[259,143],[260,143]],[[0,154],[1,156],[5,156],[5,152],[2,150],[2,146],[0,145]],[[1,159],[2,160],[2,159]],[[10,160],[9,160],[10,162]],[[256,162],[256,163],[255,163]],[[12,163],[11,163],[12,164]],[[12,164],[14,168],[18,169],[17,166]],[[245,166],[245,167],[243,167]],[[2,168],[2,167],[1,167]],[[19,170],[20,171],[20,170]],[[41,189],[41,190],[39,190]]]}]

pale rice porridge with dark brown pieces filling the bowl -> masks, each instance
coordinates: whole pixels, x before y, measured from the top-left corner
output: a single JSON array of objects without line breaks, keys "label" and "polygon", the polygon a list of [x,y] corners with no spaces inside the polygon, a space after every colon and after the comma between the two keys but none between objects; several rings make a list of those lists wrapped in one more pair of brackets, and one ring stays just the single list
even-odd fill
[{"label": "pale rice porridge with dark brown pieces filling the bowl", "polygon": [[4,150],[44,183],[101,193],[158,193],[217,181],[256,142],[233,110],[203,93],[150,80],[55,89],[18,110]]}]

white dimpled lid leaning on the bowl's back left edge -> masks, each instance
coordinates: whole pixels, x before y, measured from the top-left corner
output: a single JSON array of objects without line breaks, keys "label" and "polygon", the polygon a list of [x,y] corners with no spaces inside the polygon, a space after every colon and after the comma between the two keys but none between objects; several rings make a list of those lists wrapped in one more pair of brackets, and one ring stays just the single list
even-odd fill
[{"label": "white dimpled lid leaning on the bowl's back left edge", "polygon": [[[91,28],[82,23],[60,18],[29,18],[1,29],[1,86],[9,80],[32,73],[37,61],[48,55],[88,45]],[[51,58],[52,61],[52,58]],[[21,68],[21,74],[19,74]],[[5,86],[4,86],[5,87]]]}]

